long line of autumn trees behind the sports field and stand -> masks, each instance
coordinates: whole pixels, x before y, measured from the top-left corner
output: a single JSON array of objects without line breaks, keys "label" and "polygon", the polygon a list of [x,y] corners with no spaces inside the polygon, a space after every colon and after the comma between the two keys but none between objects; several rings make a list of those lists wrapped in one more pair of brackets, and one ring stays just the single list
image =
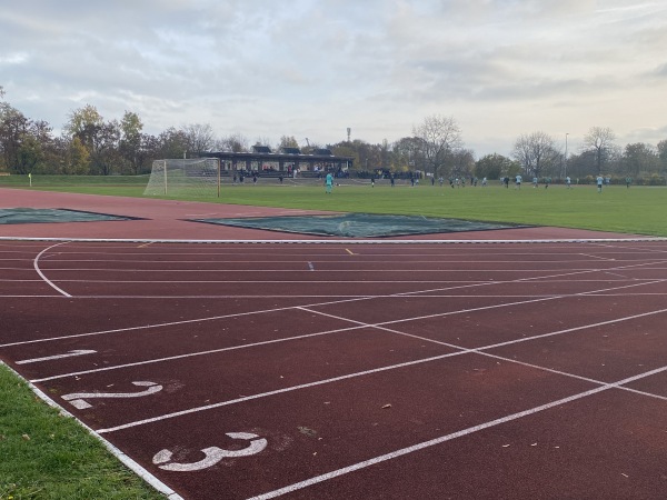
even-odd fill
[{"label": "long line of autumn trees behind the sports field and stand", "polygon": [[[570,177],[581,181],[604,174],[636,183],[665,184],[667,140],[658,144],[637,142],[624,148],[616,144],[609,128],[593,127],[577,151],[567,151],[546,132],[536,131],[517,138],[511,153],[476,159],[465,148],[459,124],[452,117],[434,114],[412,128],[412,134],[394,142],[372,144],[347,140],[320,144],[307,140],[302,147],[293,136],[282,136],[275,150],[300,148],[309,153],[327,148],[334,154],[354,158],[358,176],[389,172],[420,172],[434,179],[500,179],[517,173],[554,180]],[[253,144],[271,146],[266,138]],[[26,117],[4,100],[0,87],[0,171],[16,174],[141,174],[151,170],[152,161],[163,158],[196,158],[202,152],[251,149],[240,133],[218,137],[210,124],[170,127],[157,136],[145,133],[141,118],[126,111],[122,118],[106,120],[86,104],[71,111],[61,134],[43,120]]]}]

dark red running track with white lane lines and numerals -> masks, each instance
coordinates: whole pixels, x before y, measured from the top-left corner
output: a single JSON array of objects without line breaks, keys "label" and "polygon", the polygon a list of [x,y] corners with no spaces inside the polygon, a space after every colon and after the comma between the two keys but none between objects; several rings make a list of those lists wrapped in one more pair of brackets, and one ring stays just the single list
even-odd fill
[{"label": "dark red running track with white lane lines and numerals", "polygon": [[667,497],[665,243],[0,241],[0,359],[182,498]]}]

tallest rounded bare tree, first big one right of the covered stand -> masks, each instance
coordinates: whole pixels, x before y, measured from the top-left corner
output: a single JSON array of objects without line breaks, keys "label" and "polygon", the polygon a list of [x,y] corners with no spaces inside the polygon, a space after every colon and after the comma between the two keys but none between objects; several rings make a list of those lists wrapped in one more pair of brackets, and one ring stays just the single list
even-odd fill
[{"label": "tallest rounded bare tree, first big one right of the covered stand", "polygon": [[426,117],[420,126],[412,128],[412,133],[420,140],[425,168],[435,177],[462,144],[461,130],[452,117]]}]

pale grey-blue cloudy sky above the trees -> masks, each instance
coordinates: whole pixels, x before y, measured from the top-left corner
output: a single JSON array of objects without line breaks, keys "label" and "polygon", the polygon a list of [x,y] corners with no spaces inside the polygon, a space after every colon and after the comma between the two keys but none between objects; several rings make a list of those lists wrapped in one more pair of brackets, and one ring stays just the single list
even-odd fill
[{"label": "pale grey-blue cloudy sky above the trees", "polygon": [[94,106],[145,132],[395,141],[454,117],[477,157],[544,131],[667,139],[667,0],[21,0],[0,86],[59,131]]}]

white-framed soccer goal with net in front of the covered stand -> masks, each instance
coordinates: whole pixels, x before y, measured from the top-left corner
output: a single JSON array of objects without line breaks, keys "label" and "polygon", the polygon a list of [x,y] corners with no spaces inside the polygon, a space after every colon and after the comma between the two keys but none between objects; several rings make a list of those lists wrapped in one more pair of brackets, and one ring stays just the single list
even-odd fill
[{"label": "white-framed soccer goal with net in front of the covered stand", "polygon": [[155,160],[145,197],[220,197],[220,160]]}]

